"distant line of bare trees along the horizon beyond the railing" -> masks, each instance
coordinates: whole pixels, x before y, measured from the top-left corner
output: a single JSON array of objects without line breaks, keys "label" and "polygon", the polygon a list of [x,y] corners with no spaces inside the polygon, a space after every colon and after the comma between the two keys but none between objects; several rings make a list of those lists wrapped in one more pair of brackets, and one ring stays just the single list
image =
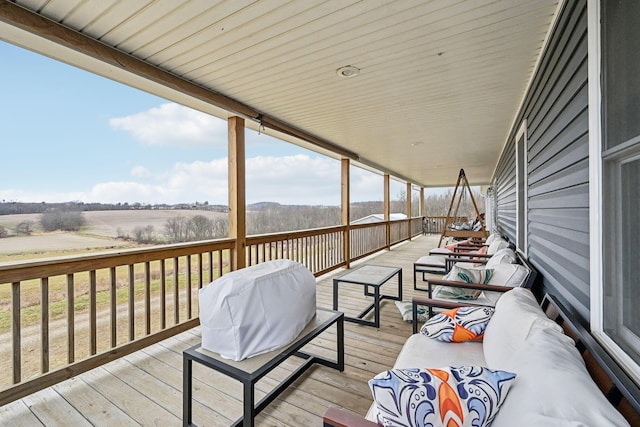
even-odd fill
[{"label": "distant line of bare trees along the horizon beyond the railing", "polygon": [[[425,199],[425,216],[444,216],[451,205],[453,190],[441,194],[431,194]],[[474,192],[474,199],[478,209],[484,211],[484,197]],[[456,201],[457,202],[457,201]],[[412,213],[416,215],[419,198],[412,197]],[[0,203],[0,212],[10,210],[33,211],[42,209],[40,225],[44,231],[78,231],[84,224],[83,211],[89,210],[126,210],[142,209],[140,204],[104,204],[104,203]],[[154,205],[160,206],[160,205]],[[173,205],[174,208],[176,205]],[[189,205],[191,206],[191,205]],[[200,208],[209,206],[208,203],[198,204]],[[213,210],[228,210],[226,206],[215,205]],[[184,209],[181,206],[180,209]],[[193,208],[193,207],[191,207]],[[166,209],[166,208],[165,208]],[[454,204],[455,209],[455,204]],[[401,191],[395,200],[390,201],[391,213],[406,213],[406,194]],[[382,201],[355,202],[350,206],[350,220],[356,220],[372,214],[382,214]],[[17,212],[14,212],[17,213]],[[20,212],[25,213],[25,212]],[[32,212],[33,213],[33,212]],[[470,198],[464,197],[458,208],[458,216],[472,218],[475,216]],[[247,234],[279,233],[291,230],[306,230],[320,227],[330,227],[340,224],[341,211],[339,206],[309,206],[309,205],[281,205],[279,203],[262,202],[247,207]],[[23,221],[16,226],[17,235],[30,235],[35,227],[31,220]],[[9,230],[0,226],[0,238],[8,237]],[[224,238],[229,235],[227,218],[208,218],[195,215],[191,218],[174,217],[166,221],[164,229],[156,231],[152,225],[140,225],[133,229],[132,235],[118,230],[118,237],[133,240],[137,243],[179,243],[196,240]]]}]

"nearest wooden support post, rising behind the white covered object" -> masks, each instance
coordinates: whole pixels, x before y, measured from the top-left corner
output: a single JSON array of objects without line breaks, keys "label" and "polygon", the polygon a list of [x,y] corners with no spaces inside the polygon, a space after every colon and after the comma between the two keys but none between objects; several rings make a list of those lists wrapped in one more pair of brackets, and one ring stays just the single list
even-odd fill
[{"label": "nearest wooden support post, rising behind the white covered object", "polygon": [[229,237],[235,239],[232,270],[246,266],[247,217],[245,195],[244,119],[229,117]]}]

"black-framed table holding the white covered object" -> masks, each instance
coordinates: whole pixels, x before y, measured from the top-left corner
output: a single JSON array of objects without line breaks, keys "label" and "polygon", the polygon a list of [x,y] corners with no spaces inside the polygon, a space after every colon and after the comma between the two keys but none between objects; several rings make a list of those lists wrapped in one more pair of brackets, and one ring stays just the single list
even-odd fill
[{"label": "black-framed table holding the white covered object", "polygon": [[[331,325],[336,325],[336,360],[308,354],[300,351],[302,347],[328,329]],[[297,356],[305,359],[295,371],[284,379],[276,388],[255,404],[255,384],[271,370],[276,368],[290,356]],[[182,353],[183,361],[183,418],[184,426],[195,426],[192,423],[192,399],[193,399],[193,362],[200,363],[243,384],[243,416],[232,426],[253,427],[256,415],[267,407],[280,393],[289,387],[300,375],[304,373],[312,364],[328,366],[330,368],[344,371],[344,314],[324,308],[318,308],[316,315],[302,332],[287,346],[250,357],[239,362],[225,359],[218,353],[205,350],[201,344],[194,345]]]}]

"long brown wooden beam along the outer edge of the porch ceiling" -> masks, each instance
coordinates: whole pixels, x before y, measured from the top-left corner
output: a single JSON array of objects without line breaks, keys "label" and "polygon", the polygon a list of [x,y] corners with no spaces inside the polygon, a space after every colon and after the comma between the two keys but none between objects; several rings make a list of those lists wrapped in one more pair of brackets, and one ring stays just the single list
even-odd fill
[{"label": "long brown wooden beam along the outer edge of the porch ceiling", "polygon": [[149,79],[171,89],[193,96],[196,99],[223,108],[276,131],[302,139],[325,150],[332,151],[352,160],[359,160],[359,155],[335,143],[310,135],[280,120],[269,117],[254,108],[225,96],[219,92],[191,83],[175,74],[164,71],[118,49],[92,39],[44,16],[24,9],[8,0],[0,0],[0,21],[28,31],[61,46],[73,49],[92,58],[98,59],[114,67],[123,69],[143,78]]}]

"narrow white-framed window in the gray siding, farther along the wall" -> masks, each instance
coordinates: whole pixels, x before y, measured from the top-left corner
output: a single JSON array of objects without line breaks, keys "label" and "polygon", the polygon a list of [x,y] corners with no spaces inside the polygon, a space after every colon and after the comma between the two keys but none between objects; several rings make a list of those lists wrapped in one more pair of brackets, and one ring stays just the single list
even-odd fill
[{"label": "narrow white-framed window in the gray siding, farther along the wall", "polygon": [[527,253],[527,121],[516,134],[516,245]]}]

